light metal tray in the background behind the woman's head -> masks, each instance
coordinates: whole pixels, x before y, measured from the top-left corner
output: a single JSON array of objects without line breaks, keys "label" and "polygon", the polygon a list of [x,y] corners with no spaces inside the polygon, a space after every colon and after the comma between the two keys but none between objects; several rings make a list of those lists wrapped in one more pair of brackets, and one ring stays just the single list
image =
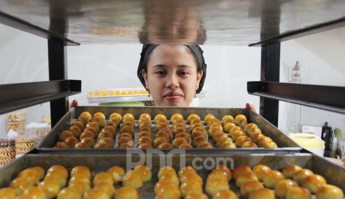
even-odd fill
[{"label": "light metal tray in the background behind the woman's head", "polygon": [[[126,91],[128,93],[128,91],[139,91],[140,92],[141,90],[145,90],[145,88],[141,87],[141,88],[119,88],[119,89],[89,90],[88,93],[90,93],[90,92],[97,93],[97,92],[102,92],[102,91],[107,91],[109,93],[111,91],[114,91],[114,92]],[[198,98],[206,97],[206,92],[201,91],[196,96]],[[89,103],[132,102],[132,101],[150,101],[150,100],[153,100],[152,97],[148,96],[148,94],[94,96],[94,97],[90,97],[88,94],[87,98],[89,100]]]}]

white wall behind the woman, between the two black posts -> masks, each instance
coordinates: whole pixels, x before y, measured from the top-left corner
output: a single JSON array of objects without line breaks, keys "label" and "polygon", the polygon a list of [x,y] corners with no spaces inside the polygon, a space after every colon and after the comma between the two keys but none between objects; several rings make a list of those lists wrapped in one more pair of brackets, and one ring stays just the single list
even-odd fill
[{"label": "white wall behind the woman, between the two black posts", "polygon": [[[142,45],[69,46],[68,77],[82,81],[82,93],[71,96],[70,100],[87,105],[88,90],[143,87],[137,77],[141,48]],[[233,92],[258,107],[259,97],[248,95],[247,81],[259,80],[260,48],[210,45],[201,48],[207,64],[203,88],[207,95]]]}]

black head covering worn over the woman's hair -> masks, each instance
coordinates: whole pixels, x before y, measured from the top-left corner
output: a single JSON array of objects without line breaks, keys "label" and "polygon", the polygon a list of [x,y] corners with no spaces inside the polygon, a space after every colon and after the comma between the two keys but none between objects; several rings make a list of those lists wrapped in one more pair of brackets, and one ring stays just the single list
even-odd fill
[{"label": "black head covering worn over the woman's hair", "polygon": [[[146,88],[145,79],[142,76],[142,70],[144,69],[144,65],[143,65],[144,60],[151,53],[151,51],[153,49],[155,49],[157,46],[158,45],[153,45],[153,44],[148,44],[148,45],[144,44],[142,46],[142,51],[140,53],[141,57],[140,57],[140,61],[139,61],[137,75],[138,75],[138,78],[140,79],[141,84],[144,85],[145,88]],[[201,89],[203,89],[205,78],[206,78],[206,67],[207,66],[205,64],[205,59],[203,56],[204,51],[200,48],[199,45],[185,45],[185,46],[187,46],[189,49],[191,49],[193,54],[198,59],[198,65],[201,66],[201,70],[203,70],[203,76],[200,79],[199,88],[196,90],[196,93],[200,93]]]}]

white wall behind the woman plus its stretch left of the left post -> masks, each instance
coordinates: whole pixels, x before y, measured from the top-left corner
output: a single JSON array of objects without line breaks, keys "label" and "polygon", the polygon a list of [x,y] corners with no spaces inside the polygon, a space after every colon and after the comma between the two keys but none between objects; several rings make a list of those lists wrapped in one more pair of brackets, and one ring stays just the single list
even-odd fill
[{"label": "white wall behind the woman plus its stretch left of the left post", "polygon": [[[0,24],[0,84],[48,80],[47,40]],[[136,76],[141,45],[81,45],[67,47],[68,78],[82,80],[82,93],[70,97],[90,105],[87,90],[142,87]],[[260,48],[246,46],[202,46],[207,64],[204,90],[208,94],[233,92],[259,106],[259,98],[248,95],[246,82],[259,80]],[[91,104],[93,105],[93,104]],[[244,104],[243,104],[244,107]],[[27,123],[49,115],[49,103],[24,110]],[[5,115],[0,115],[0,137],[5,134]]]}]

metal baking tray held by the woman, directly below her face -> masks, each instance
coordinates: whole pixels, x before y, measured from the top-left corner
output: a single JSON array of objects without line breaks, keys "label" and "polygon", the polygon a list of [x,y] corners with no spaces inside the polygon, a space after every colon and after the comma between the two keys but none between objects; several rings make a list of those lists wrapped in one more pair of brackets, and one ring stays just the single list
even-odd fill
[{"label": "metal baking tray held by the woman, directly below her face", "polygon": [[[126,113],[131,113],[134,115],[136,119],[139,118],[140,114],[142,113],[149,113],[152,117],[152,135],[154,136],[156,133],[155,124],[153,123],[153,117],[157,114],[165,114],[169,119],[172,114],[180,113],[183,115],[185,119],[190,114],[197,114],[203,119],[207,114],[213,114],[216,118],[221,119],[224,115],[232,115],[236,116],[238,114],[243,114],[247,117],[248,123],[253,122],[258,125],[258,127],[262,130],[264,134],[272,138],[272,140],[278,145],[278,148],[274,149],[264,149],[264,148],[237,148],[237,149],[221,149],[221,148],[213,148],[213,149],[189,149],[188,151],[197,151],[200,152],[233,152],[233,153],[242,153],[242,154],[250,154],[250,153],[277,153],[277,154],[286,154],[286,153],[296,153],[301,152],[303,149],[297,145],[293,140],[291,140],[288,136],[284,133],[280,132],[274,125],[270,124],[267,120],[263,117],[258,115],[256,112],[252,110],[248,110],[246,108],[199,108],[199,107],[109,107],[109,106],[78,106],[76,108],[72,108],[62,119],[52,128],[51,132],[43,139],[43,141],[37,146],[38,149],[42,152],[46,153],[54,153],[57,151],[64,151],[64,152],[72,152],[72,153],[89,153],[90,150],[92,151],[109,151],[109,150],[126,150],[126,149],[116,149],[118,147],[118,134],[115,140],[115,147],[114,149],[52,149],[52,147],[58,142],[58,135],[60,132],[67,130],[69,126],[72,124],[73,121],[80,115],[81,112],[88,111],[91,114],[102,112],[106,115],[106,118],[109,117],[111,113],[119,113],[124,115]],[[170,124],[170,127],[172,124]],[[189,125],[187,125],[188,130]],[[204,126],[207,128],[207,126]],[[138,124],[135,126],[135,132],[138,133]],[[135,136],[135,147],[137,141],[137,136]],[[213,143],[212,139],[208,139],[210,144]],[[155,150],[155,149],[151,149]],[[168,149],[169,150],[169,149]],[[77,151],[77,152],[76,152]],[[163,150],[167,151],[167,150]]]}]

